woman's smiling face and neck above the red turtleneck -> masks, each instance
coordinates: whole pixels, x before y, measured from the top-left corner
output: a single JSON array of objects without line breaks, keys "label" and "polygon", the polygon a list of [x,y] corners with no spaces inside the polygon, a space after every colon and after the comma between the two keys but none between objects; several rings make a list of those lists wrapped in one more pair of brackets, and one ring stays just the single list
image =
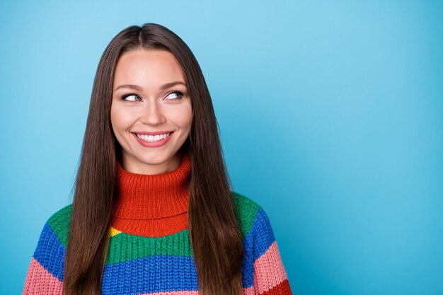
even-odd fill
[{"label": "woman's smiling face and neck above the red turtleneck", "polygon": [[120,57],[110,120],[125,170],[159,174],[180,166],[192,106],[185,74],[171,52],[140,49]]}]

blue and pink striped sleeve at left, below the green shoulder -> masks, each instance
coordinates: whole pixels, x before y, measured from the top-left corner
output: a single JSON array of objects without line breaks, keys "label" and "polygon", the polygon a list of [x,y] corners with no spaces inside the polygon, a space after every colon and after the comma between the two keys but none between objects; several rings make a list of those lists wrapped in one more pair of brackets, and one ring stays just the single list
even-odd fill
[{"label": "blue and pink striped sleeve at left, below the green shoulder", "polygon": [[64,246],[46,222],[30,260],[23,295],[62,295],[64,252]]}]

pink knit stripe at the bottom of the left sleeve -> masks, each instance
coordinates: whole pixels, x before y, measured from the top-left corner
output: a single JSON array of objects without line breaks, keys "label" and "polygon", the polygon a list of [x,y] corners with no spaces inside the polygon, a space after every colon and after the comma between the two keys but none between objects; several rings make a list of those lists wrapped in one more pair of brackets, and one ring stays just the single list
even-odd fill
[{"label": "pink knit stripe at the bottom of the left sleeve", "polygon": [[62,295],[63,283],[54,277],[50,272],[45,270],[40,263],[32,258],[26,274],[25,286],[23,287],[23,295],[30,294],[51,294]]}]

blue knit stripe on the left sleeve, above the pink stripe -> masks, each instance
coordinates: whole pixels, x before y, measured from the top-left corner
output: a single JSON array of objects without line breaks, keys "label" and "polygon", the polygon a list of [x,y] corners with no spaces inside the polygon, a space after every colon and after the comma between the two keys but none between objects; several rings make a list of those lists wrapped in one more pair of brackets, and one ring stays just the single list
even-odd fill
[{"label": "blue knit stripe on the left sleeve, above the pink stripe", "polygon": [[62,281],[64,253],[64,246],[55,236],[51,226],[46,223],[40,233],[33,257],[54,277]]}]

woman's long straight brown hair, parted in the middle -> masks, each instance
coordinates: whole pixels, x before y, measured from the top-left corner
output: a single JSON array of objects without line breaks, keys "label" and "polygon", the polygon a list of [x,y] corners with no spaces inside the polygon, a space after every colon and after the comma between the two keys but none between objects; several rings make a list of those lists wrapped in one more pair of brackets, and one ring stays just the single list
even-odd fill
[{"label": "woman's long straight brown hair, parted in the middle", "polygon": [[182,151],[192,163],[188,225],[200,294],[241,294],[243,238],[226,172],[219,125],[197,59],[188,45],[162,25],[132,25],[118,33],[98,64],[89,105],[64,264],[64,294],[100,294],[117,195],[121,157],[110,122],[113,76],[130,50],[168,50],[185,72],[193,120]]}]

